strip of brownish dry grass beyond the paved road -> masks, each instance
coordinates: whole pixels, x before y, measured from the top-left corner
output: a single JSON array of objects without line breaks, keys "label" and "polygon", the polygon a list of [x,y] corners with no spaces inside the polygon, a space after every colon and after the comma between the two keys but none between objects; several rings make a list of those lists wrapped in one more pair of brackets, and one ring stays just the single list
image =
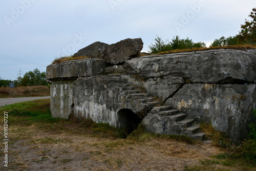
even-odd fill
[{"label": "strip of brownish dry grass beyond the paved road", "polygon": [[[37,97],[50,96],[50,88],[47,86],[30,86],[30,87],[16,87],[11,88],[11,97]],[[0,88],[0,98],[10,97],[9,88]]]}]

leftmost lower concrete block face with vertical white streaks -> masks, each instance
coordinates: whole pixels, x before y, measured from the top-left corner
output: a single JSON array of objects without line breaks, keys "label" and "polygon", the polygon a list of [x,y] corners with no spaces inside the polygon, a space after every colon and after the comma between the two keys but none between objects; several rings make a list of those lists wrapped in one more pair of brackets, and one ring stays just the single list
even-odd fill
[{"label": "leftmost lower concrete block face with vertical white streaks", "polygon": [[73,113],[75,80],[55,80],[51,83],[51,113],[53,117],[68,119]]}]

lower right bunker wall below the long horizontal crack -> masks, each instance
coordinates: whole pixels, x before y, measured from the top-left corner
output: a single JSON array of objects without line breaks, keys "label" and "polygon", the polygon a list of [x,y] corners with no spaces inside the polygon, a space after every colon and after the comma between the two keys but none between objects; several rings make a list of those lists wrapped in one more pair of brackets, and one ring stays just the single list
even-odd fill
[{"label": "lower right bunker wall below the long horizontal crack", "polygon": [[165,104],[186,111],[190,118],[210,122],[239,142],[248,134],[256,108],[256,84],[185,84]]}]

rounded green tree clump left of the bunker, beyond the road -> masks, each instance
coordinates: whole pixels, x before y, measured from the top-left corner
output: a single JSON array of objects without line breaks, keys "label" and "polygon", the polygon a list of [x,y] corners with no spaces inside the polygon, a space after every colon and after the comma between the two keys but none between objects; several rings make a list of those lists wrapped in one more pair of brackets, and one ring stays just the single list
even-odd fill
[{"label": "rounded green tree clump left of the bunker, beyond the road", "polygon": [[33,72],[29,71],[24,74],[24,77],[20,80],[19,86],[47,86],[46,72],[40,73],[38,69]]}]

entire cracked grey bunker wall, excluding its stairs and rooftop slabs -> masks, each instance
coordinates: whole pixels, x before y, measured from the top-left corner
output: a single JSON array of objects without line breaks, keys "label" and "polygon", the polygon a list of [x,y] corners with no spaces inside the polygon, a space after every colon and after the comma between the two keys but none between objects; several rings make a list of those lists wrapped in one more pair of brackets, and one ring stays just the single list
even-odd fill
[{"label": "entire cracked grey bunker wall, excluding its stairs and rooftop slabs", "polygon": [[251,111],[256,108],[255,52],[222,49],[145,56],[113,67],[98,59],[51,65],[47,79],[52,115],[68,118],[74,113],[116,127],[118,110],[127,108],[140,115],[144,106],[127,100],[127,95],[108,83],[110,73],[120,73],[118,79],[144,88],[151,97],[186,111],[190,118],[212,123],[238,142],[246,136],[253,121]]}]

